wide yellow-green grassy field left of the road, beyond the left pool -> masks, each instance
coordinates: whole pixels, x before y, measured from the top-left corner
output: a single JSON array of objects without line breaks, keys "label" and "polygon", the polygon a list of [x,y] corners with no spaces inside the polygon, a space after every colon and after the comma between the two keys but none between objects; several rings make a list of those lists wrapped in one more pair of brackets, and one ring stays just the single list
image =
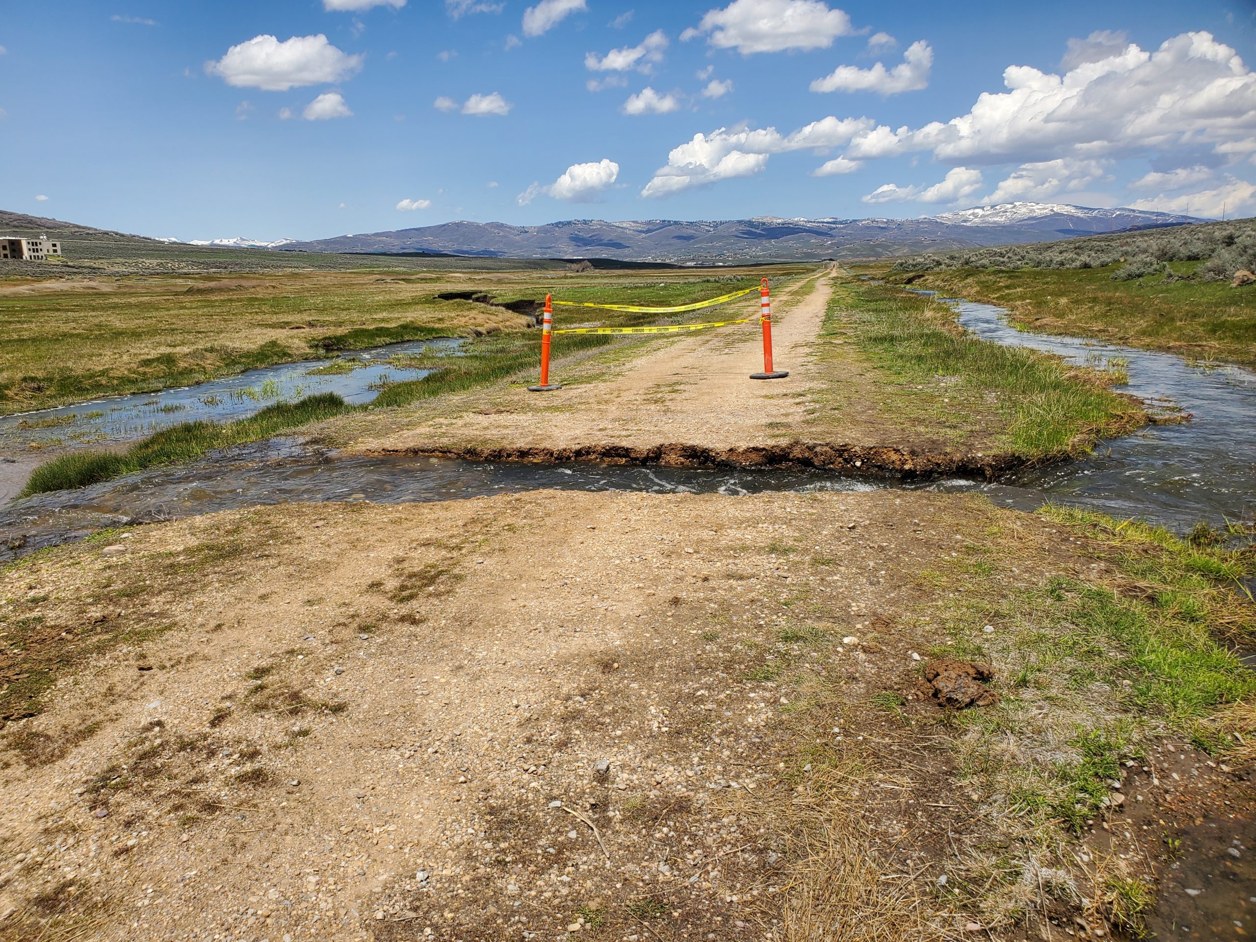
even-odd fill
[{"label": "wide yellow-green grassy field left of the road, beyond the left pool", "polygon": [[[0,334],[6,340],[0,347],[0,412],[185,386],[313,359],[329,349],[528,327],[525,318],[501,308],[437,298],[446,291],[471,290],[507,301],[560,290],[573,300],[685,303],[751,284],[757,276],[731,275],[732,283],[726,278],[700,270],[575,273],[564,266],[545,274],[525,268],[455,275],[288,271],[6,279],[0,280]],[[599,320],[608,314],[580,317]],[[632,315],[627,320],[637,323]]]}]

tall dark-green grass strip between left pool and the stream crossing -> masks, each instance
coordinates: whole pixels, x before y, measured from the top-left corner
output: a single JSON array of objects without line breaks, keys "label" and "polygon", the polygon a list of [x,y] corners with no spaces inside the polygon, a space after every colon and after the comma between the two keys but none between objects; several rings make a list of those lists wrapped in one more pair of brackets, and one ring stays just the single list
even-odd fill
[{"label": "tall dark-green grass strip between left pool and the stream crossing", "polygon": [[136,442],[121,453],[83,451],[53,458],[31,474],[21,496],[85,487],[156,465],[192,461],[207,451],[259,441],[306,422],[340,414],[350,408],[339,396],[322,393],[298,402],[280,402],[249,418],[217,425],[183,422]]}]

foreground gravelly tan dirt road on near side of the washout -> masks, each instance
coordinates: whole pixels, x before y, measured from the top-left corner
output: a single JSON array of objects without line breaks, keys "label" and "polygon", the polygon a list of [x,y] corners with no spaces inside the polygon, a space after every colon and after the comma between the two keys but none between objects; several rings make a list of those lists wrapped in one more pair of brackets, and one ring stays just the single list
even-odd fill
[{"label": "foreground gravelly tan dirt road on near side of the washout", "polygon": [[[1103,872],[1004,833],[977,727],[921,690],[976,563],[1096,571],[1041,519],[892,491],[289,505],[31,559],[5,695],[50,686],[3,736],[0,938],[1103,929],[1080,897],[1158,833],[1096,814]],[[992,687],[1036,696],[1017,669]],[[1191,813],[1232,801],[1228,839],[1250,795],[1211,774]]]}]

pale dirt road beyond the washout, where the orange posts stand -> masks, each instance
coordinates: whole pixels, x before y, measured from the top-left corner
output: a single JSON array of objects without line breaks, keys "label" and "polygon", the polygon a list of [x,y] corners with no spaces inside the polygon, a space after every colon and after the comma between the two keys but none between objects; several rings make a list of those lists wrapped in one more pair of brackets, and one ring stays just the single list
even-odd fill
[{"label": "pale dirt road beyond the washout, where the orange posts stand", "polygon": [[[750,378],[764,368],[756,319],[681,339],[652,340],[657,349],[618,362],[604,354],[570,372],[558,360],[551,382],[563,383],[563,388],[556,392],[526,393],[510,387],[455,397],[402,417],[406,427],[397,431],[364,431],[350,450],[545,460],[563,452],[607,457],[610,448],[648,452],[693,446],[720,452],[779,447],[798,438],[813,418],[811,394],[820,372],[814,349],[830,294],[829,278],[819,276],[774,298],[774,359],[777,369],[789,371],[784,379]],[[736,301],[718,309],[720,318],[746,317],[757,304],[757,298]],[[561,335],[554,340],[556,353],[561,353]],[[894,445],[902,437],[896,435],[899,431],[852,413],[829,430],[825,441]]]}]

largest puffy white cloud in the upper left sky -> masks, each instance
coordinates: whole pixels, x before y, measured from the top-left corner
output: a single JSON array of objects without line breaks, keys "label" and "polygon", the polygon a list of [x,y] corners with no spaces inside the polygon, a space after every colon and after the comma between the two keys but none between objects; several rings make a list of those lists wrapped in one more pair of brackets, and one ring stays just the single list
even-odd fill
[{"label": "largest puffy white cloud in the upper left sky", "polygon": [[280,43],[269,34],[227,49],[216,62],[207,62],[205,72],[219,75],[229,85],[286,92],[298,85],[339,82],[362,68],[360,55],[348,55],[315,36],[293,36]]}]

